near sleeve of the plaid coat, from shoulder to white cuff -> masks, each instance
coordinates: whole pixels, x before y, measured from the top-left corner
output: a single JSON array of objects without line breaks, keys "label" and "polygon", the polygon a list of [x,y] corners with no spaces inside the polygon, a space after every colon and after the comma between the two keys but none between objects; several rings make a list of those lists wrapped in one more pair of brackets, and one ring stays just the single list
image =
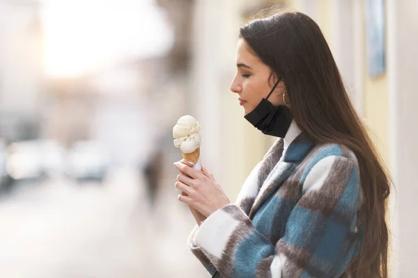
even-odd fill
[{"label": "near sleeve of the plaid coat, from shoulder to white cuff", "polygon": [[192,240],[224,278],[339,277],[359,244],[356,165],[327,156],[311,167],[276,245],[235,204],[212,213]]}]

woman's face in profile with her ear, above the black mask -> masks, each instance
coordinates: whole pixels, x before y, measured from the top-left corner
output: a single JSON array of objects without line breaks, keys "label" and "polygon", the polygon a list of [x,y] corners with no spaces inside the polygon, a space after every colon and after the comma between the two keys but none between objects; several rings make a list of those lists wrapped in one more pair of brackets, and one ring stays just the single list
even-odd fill
[{"label": "woman's face in profile with her ear, above the black mask", "polygon": [[[247,115],[256,108],[261,99],[268,96],[272,89],[272,82],[269,82],[270,67],[261,62],[258,56],[254,55],[245,40],[238,40],[236,54],[237,74],[231,83],[231,91],[238,94],[237,103],[244,107]],[[285,85],[281,81],[268,98],[274,106],[283,105],[282,93]]]}]

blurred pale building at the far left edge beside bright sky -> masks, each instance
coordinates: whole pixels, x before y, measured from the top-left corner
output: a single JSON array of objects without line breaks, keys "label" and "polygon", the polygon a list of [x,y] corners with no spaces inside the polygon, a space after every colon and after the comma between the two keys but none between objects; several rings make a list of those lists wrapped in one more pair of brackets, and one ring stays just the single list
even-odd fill
[{"label": "blurred pale building at the far left edge beside bright sky", "polygon": [[42,103],[42,48],[37,2],[0,1],[0,135],[37,136]]}]

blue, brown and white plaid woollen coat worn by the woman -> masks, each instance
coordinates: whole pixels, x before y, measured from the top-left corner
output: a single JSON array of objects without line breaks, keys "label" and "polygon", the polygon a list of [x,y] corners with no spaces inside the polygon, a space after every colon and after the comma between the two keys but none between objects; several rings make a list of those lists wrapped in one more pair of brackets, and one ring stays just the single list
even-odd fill
[{"label": "blue, brown and white plaid woollen coat worn by the woman", "polygon": [[[235,204],[196,225],[188,245],[214,277],[341,277],[359,254],[362,205],[355,154],[301,133],[277,140]],[[263,186],[264,185],[264,186]]]}]

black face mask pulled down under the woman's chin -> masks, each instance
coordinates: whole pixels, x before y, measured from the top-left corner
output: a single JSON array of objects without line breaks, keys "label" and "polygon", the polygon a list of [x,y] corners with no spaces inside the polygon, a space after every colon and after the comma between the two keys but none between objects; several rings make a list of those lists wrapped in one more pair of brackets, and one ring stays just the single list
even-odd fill
[{"label": "black face mask pulled down under the woman's chin", "polygon": [[258,106],[244,117],[245,120],[264,134],[284,138],[293,120],[291,110],[286,106],[275,107],[267,100],[277,84],[279,84],[279,81],[274,84],[268,96],[262,99]]}]

